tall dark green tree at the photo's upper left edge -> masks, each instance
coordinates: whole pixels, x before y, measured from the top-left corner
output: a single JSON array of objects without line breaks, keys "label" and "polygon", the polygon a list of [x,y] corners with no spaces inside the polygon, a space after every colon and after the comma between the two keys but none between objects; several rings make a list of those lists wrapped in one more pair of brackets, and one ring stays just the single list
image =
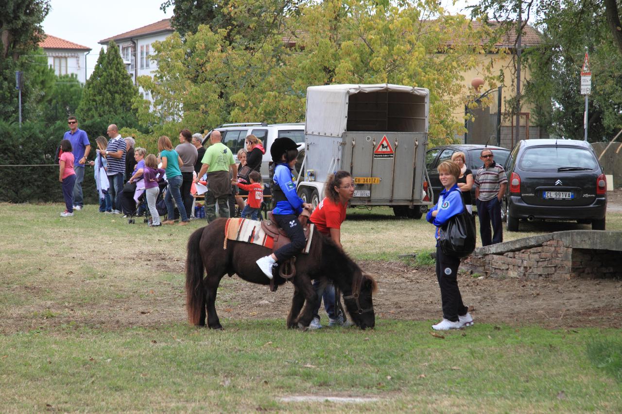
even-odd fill
[{"label": "tall dark green tree at the photo's upper left edge", "polygon": [[[4,0],[0,3],[0,119],[17,119],[15,71],[32,68],[29,59],[39,48],[44,31],[41,22],[50,11],[49,0]],[[36,68],[34,69],[36,72]],[[36,94],[26,83],[22,100],[32,102]]]}]

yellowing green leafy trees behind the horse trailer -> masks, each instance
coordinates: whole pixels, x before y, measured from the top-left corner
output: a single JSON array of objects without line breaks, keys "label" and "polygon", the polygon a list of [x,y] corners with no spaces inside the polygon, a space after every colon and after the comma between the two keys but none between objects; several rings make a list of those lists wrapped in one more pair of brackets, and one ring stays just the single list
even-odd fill
[{"label": "yellowing green leafy trees behind the horse trailer", "polygon": [[[452,110],[459,106],[455,97],[467,100],[461,73],[489,50],[482,41],[492,38],[486,25],[473,29],[434,1],[331,0],[297,10],[253,44],[199,25],[185,39],[174,34],[154,45],[158,70],[154,78],[139,78],[139,85],[151,91],[155,111],[137,99],[141,122],[158,127],[172,120],[177,127],[183,120],[199,130],[223,122],[304,121],[308,86],[387,82],[430,89],[430,137],[452,140],[462,132]],[[248,19],[235,7],[230,16]]]}]

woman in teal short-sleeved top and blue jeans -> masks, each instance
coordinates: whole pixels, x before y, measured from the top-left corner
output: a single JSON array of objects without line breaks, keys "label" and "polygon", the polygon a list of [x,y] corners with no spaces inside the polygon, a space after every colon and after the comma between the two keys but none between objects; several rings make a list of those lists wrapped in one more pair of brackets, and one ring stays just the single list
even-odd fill
[{"label": "woman in teal short-sleeved top and blue jeans", "polygon": [[175,204],[177,205],[179,214],[182,216],[182,221],[179,225],[185,226],[188,224],[190,219],[188,219],[186,209],[183,207],[182,193],[180,191],[183,179],[182,170],[180,170],[179,167],[182,167],[183,165],[182,159],[179,157],[179,154],[177,154],[177,151],[173,149],[173,144],[167,136],[161,136],[157,140],[157,149],[160,151],[162,168],[164,168],[166,172],[166,180],[169,182],[166,195],[164,196],[167,217],[165,221],[162,221],[162,224],[175,223],[175,206],[173,205],[173,199],[175,199]]}]

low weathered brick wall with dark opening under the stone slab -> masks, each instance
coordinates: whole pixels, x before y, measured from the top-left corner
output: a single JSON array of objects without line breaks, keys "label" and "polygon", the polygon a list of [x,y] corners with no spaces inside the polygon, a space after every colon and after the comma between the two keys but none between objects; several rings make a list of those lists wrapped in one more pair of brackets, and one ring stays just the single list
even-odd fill
[{"label": "low weathered brick wall with dark opening under the stone slab", "polygon": [[622,277],[622,252],[573,249],[561,240],[503,254],[471,255],[462,268],[490,277],[572,278]]}]

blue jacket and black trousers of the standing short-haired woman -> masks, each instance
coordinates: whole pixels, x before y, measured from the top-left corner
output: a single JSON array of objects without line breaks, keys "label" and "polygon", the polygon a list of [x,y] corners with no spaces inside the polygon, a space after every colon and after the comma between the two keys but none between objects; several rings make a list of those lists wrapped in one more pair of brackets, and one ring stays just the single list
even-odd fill
[{"label": "blue jacket and black trousers of the standing short-haired woman", "polygon": [[[450,218],[464,211],[464,201],[456,184],[447,191],[440,192],[439,202],[428,211],[425,218],[436,227],[435,238],[439,238],[439,227],[447,224]],[[439,211],[432,217],[432,211]],[[466,315],[468,308],[462,303],[462,295],[458,288],[458,266],[460,259],[443,254],[439,243],[436,244],[436,277],[439,280],[440,298],[443,305],[443,318],[452,322],[458,321],[458,315]]]}]

